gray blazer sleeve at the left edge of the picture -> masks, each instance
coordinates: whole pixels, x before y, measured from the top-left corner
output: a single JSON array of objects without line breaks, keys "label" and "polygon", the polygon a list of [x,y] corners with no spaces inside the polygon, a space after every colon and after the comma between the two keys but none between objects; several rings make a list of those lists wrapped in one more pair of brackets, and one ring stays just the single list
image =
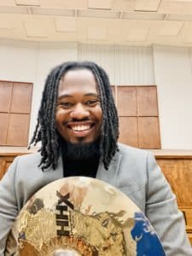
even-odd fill
[{"label": "gray blazer sleeve at the left edge of the picture", "polygon": [[15,195],[15,172],[17,158],[0,181],[0,255],[4,255],[9,231],[18,214]]}]

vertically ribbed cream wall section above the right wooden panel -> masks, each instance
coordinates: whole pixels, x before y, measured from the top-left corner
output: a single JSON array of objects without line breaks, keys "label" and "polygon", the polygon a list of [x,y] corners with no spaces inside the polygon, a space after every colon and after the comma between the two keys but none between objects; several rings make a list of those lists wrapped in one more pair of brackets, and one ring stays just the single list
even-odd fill
[{"label": "vertically ribbed cream wall section above the right wooden panel", "polygon": [[108,73],[111,84],[154,84],[151,47],[79,45],[79,61],[95,61]]}]

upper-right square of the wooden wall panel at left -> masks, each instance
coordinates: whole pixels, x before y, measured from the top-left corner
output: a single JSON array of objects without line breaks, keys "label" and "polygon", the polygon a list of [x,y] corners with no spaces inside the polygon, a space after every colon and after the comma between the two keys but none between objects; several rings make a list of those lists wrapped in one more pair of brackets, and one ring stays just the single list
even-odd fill
[{"label": "upper-right square of the wooden wall panel at left", "polygon": [[14,83],[10,112],[30,113],[32,84]]}]

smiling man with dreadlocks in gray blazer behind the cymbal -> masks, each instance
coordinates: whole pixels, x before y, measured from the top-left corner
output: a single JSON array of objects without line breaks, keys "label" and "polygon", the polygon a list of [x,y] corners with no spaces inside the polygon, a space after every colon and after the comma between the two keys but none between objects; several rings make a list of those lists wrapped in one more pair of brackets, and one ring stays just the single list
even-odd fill
[{"label": "smiling man with dreadlocks in gray blazer behind the cymbal", "polygon": [[146,214],[168,256],[192,255],[175,195],[151,153],[117,144],[119,122],[108,75],[92,62],[66,62],[45,82],[31,143],[41,154],[17,157],[0,182],[0,255],[26,201],[55,179],[96,177]]}]

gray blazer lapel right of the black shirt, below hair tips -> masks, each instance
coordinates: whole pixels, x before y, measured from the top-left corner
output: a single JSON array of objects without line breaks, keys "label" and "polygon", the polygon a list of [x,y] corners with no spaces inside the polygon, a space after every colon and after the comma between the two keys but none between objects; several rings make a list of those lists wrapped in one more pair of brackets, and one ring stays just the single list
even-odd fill
[{"label": "gray blazer lapel right of the black shirt, below hair tips", "polygon": [[122,154],[117,151],[116,154],[113,156],[113,159],[111,160],[108,170],[105,169],[102,161],[100,161],[98,170],[96,172],[96,178],[101,179],[102,181],[109,183],[113,186],[116,186],[121,158]]}]

